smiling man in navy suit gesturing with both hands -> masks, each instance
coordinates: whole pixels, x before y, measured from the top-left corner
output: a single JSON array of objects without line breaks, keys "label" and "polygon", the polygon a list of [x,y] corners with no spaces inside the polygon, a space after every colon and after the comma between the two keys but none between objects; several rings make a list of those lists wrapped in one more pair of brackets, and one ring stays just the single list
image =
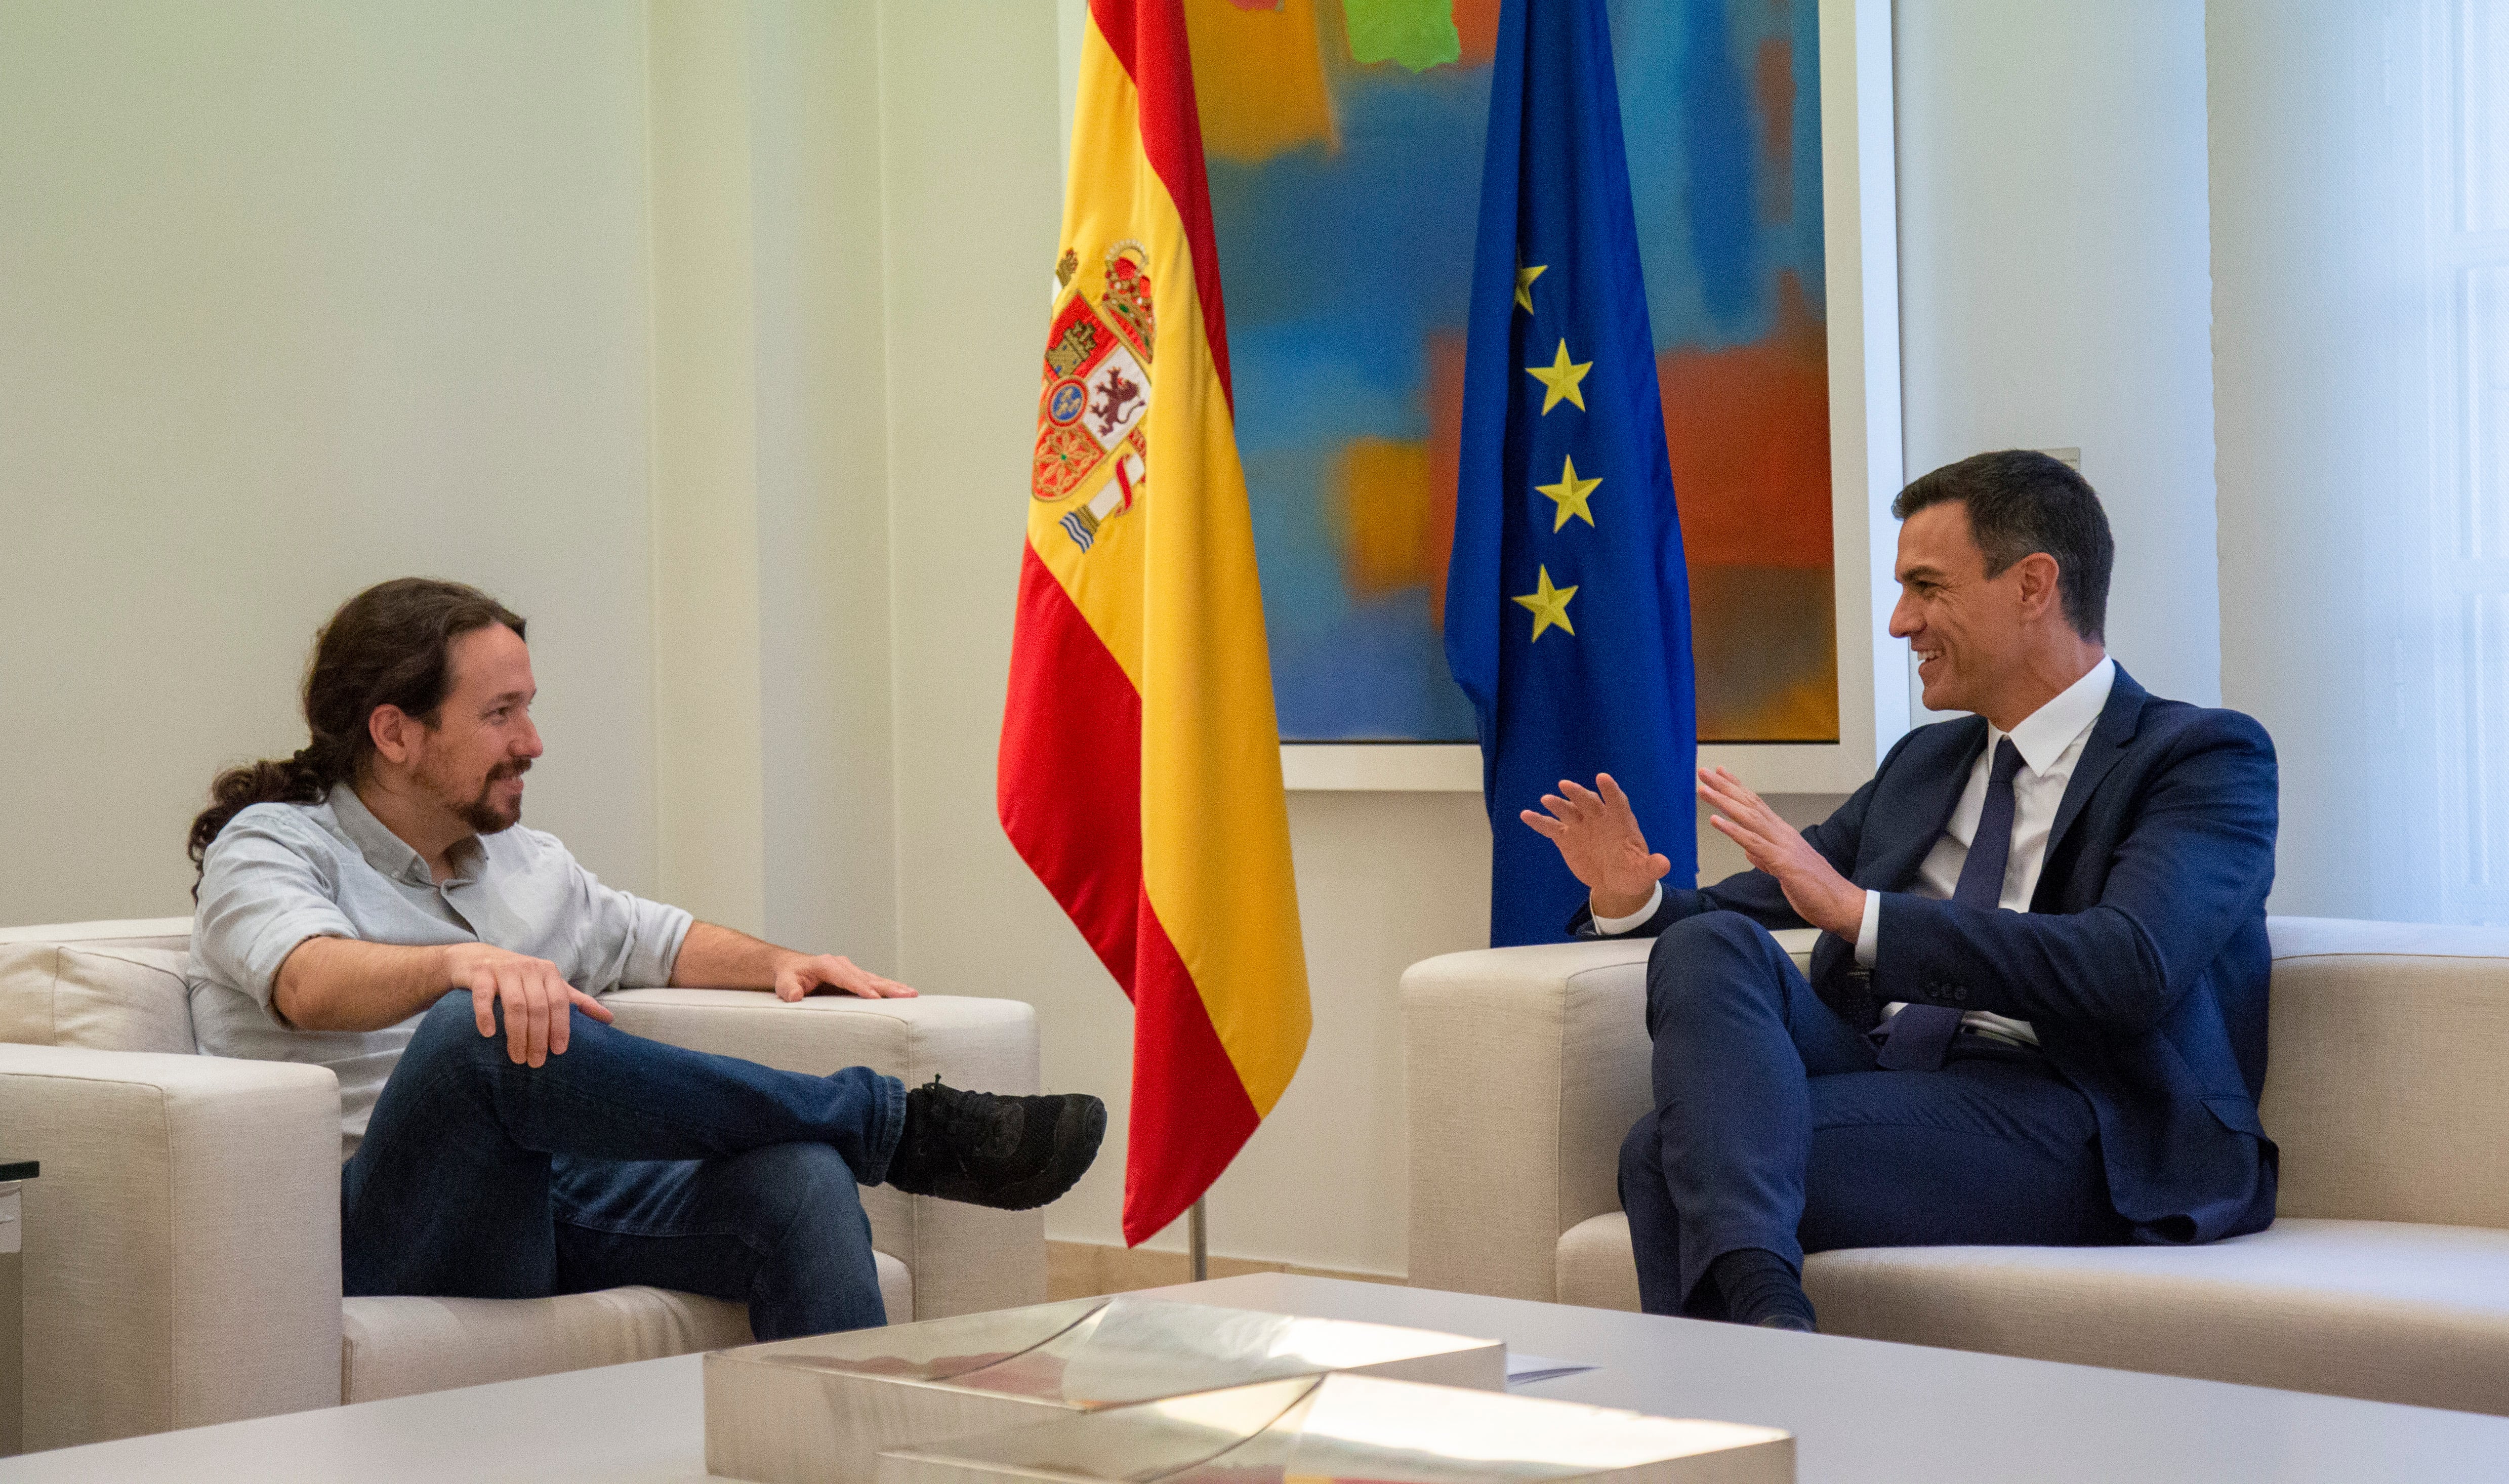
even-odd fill
[{"label": "smiling man in navy suit gesturing with both hands", "polygon": [[[2273,1223],[2273,741],[2103,648],[2115,542],[2035,452],[1899,492],[1899,605],[1934,711],[1796,831],[1724,768],[1751,871],[1666,891],[1611,781],[1523,819],[1653,934],[1656,1107],[1621,1145],[1648,1313],[1814,1328],[1804,1253],[2205,1243]],[[1769,929],[1819,927],[1811,977]]]}]

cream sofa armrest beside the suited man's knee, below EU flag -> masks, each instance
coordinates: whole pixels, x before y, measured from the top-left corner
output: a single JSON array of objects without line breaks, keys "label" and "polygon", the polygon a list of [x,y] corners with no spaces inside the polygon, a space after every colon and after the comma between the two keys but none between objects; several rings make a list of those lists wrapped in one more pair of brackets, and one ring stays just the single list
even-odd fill
[{"label": "cream sofa armrest beside the suited man's knee, below EU flag", "polygon": [[[1811,932],[1776,934],[1801,962]],[[1558,1240],[1621,1208],[1646,1112],[1653,939],[1443,954],[1403,974],[1410,1281],[1556,1298]]]}]

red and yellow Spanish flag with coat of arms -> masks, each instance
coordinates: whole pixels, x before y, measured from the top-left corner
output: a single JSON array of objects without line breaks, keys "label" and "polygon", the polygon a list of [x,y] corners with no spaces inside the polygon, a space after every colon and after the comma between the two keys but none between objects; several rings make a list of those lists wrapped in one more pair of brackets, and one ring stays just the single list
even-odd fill
[{"label": "red and yellow Spanish flag with coat of arms", "polygon": [[1089,0],[1001,826],[1134,1007],[1124,1240],[1307,1050],[1307,957],[1179,0]]}]

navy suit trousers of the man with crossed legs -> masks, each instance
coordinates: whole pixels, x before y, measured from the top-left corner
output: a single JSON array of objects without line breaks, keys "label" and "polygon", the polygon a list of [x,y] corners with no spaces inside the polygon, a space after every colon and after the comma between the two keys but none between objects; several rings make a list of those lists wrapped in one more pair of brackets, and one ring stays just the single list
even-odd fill
[{"label": "navy suit trousers of the man with crossed legs", "polygon": [[1648,1313],[1724,1318],[1724,1253],[2095,1245],[2110,1210],[2090,1102],[2045,1057],[1962,1035],[1939,1072],[1874,1047],[1734,911],[1676,922],[1646,964],[1656,1107],[1621,1145]]}]

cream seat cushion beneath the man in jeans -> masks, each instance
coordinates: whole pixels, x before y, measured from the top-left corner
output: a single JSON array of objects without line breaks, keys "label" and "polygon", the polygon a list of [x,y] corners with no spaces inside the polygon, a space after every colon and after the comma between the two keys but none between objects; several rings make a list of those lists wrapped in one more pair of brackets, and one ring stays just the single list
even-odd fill
[{"label": "cream seat cushion beneath the man in jeans", "polygon": [[[888,1321],[913,1318],[906,1263],[873,1253]],[[745,1303],[667,1288],[560,1298],[344,1298],[339,1399],[379,1401],[750,1343]]]}]

